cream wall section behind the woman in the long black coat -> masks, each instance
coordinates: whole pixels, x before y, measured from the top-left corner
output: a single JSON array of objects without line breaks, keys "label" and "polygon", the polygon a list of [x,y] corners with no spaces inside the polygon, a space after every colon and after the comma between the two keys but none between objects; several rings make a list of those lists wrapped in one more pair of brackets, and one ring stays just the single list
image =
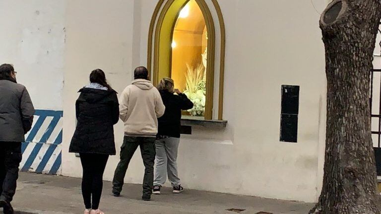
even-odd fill
[{"label": "cream wall section behind the woman in the long black coat", "polygon": [[[101,68],[111,86],[122,92],[131,81],[133,56],[133,0],[69,0],[66,10],[66,54],[64,72],[64,139],[62,173],[79,177],[80,160],[67,153],[75,129],[77,91],[89,82],[93,69]],[[122,145],[123,125],[115,126],[117,147]],[[104,178],[111,180],[119,156],[109,159]],[[130,171],[140,171],[139,160]],[[140,174],[134,173],[139,176]],[[135,179],[137,182],[138,179]]]}]

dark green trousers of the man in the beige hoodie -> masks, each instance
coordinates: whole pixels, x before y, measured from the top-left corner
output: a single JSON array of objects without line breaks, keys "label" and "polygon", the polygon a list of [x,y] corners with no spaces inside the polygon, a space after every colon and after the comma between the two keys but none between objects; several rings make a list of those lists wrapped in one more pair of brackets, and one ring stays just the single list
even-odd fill
[{"label": "dark green trousers of the man in the beige hoodie", "polygon": [[125,136],[121,147],[121,160],[115,170],[113,179],[113,193],[119,195],[122,191],[129,161],[140,146],[145,171],[143,179],[143,198],[150,198],[153,188],[153,165],[155,164],[155,137]]}]

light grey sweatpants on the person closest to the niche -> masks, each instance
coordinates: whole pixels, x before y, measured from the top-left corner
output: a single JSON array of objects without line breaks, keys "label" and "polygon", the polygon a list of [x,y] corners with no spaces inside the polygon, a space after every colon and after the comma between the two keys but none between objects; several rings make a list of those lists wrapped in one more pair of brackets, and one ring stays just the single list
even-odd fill
[{"label": "light grey sweatpants on the person closest to the niche", "polygon": [[165,138],[155,141],[156,145],[156,170],[154,186],[163,186],[167,180],[173,187],[180,185],[177,172],[177,150],[180,138]]}]

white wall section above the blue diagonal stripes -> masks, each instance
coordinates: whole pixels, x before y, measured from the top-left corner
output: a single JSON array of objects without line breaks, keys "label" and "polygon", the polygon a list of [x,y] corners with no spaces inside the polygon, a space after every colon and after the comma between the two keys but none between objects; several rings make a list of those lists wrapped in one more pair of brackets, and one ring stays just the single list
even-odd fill
[{"label": "white wall section above the blue diagonal stripes", "polygon": [[11,63],[38,109],[62,110],[66,0],[1,0],[0,64]]}]

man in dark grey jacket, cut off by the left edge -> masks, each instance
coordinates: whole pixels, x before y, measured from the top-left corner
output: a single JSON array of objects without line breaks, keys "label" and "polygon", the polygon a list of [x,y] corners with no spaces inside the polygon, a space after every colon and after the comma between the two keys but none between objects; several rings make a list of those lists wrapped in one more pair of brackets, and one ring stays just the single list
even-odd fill
[{"label": "man in dark grey jacket, cut off by the left edge", "polygon": [[31,129],[34,107],[25,86],[16,83],[10,64],[0,65],[0,207],[13,214],[10,202],[16,191],[21,142]]}]

